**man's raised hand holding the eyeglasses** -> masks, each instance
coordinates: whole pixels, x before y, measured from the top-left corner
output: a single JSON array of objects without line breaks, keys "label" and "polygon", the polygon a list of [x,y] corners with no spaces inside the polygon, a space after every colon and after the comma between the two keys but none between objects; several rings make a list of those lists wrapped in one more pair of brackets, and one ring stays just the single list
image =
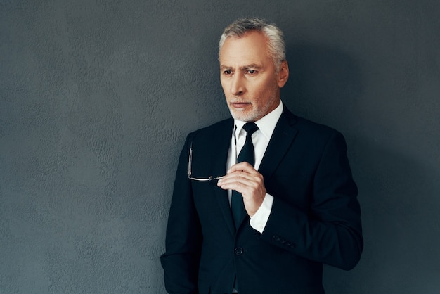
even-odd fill
[{"label": "man's raised hand holding the eyeglasses", "polygon": [[240,162],[228,170],[217,186],[224,190],[235,190],[242,194],[247,214],[252,217],[266,196],[263,176],[247,162]]}]

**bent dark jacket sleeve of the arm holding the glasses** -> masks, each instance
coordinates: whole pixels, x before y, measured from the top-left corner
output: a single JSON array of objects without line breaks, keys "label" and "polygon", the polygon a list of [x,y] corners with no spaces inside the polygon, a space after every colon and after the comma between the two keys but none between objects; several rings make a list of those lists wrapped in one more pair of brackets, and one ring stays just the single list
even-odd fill
[{"label": "bent dark jacket sleeve of the arm holding the glasses", "polygon": [[309,209],[274,197],[261,238],[315,262],[352,269],[363,250],[358,190],[351,176],[344,137],[335,132],[311,175]]}]

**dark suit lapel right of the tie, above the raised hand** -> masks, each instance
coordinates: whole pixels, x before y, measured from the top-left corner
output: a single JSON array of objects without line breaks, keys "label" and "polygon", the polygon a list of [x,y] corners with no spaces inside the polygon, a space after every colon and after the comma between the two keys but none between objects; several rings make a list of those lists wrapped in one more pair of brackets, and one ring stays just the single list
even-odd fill
[{"label": "dark suit lapel right of the tie, above the raised hand", "polygon": [[275,172],[281,160],[283,160],[285,153],[292,145],[298,132],[297,129],[293,127],[295,122],[295,115],[290,113],[287,108],[284,108],[283,114],[280,116],[280,120],[278,120],[273,130],[271,141],[269,141],[259,167],[259,172],[263,174],[265,181],[271,178],[273,172]]}]

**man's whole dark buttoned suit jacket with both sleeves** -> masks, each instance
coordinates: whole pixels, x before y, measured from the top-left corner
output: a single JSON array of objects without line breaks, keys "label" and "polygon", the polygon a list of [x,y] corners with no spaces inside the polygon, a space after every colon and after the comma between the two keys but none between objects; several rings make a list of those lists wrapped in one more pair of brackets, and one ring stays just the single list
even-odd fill
[{"label": "man's whole dark buttoned suit jacket with both sleeves", "polygon": [[161,257],[169,293],[324,293],[322,264],[353,268],[363,249],[357,188],[342,134],[284,108],[259,167],[273,207],[262,234],[235,230],[225,173],[233,119],[188,135],[176,172]]}]

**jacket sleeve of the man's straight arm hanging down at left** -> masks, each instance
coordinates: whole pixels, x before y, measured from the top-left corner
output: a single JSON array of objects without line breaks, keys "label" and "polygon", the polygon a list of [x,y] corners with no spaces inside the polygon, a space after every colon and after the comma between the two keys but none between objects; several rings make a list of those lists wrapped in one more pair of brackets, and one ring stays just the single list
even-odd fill
[{"label": "jacket sleeve of the man's straight arm hanging down at left", "polygon": [[188,179],[188,135],[181,151],[169,210],[165,253],[160,257],[167,292],[197,294],[202,233]]}]

